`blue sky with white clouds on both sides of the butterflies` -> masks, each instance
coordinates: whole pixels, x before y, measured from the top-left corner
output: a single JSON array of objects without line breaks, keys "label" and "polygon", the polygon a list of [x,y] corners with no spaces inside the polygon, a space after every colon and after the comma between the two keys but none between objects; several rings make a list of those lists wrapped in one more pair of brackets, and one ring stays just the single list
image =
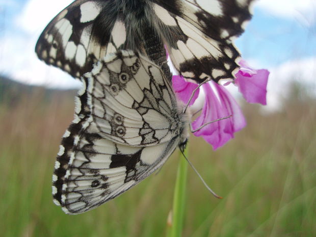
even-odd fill
[{"label": "blue sky with white clouds on both sides of the butterflies", "polygon": [[[37,59],[36,41],[47,23],[70,0],[0,0],[0,74],[49,88],[80,88],[60,69]],[[316,95],[316,1],[258,0],[245,33],[235,41],[254,68],[266,68],[268,108],[279,107],[291,80],[303,82]]]}]

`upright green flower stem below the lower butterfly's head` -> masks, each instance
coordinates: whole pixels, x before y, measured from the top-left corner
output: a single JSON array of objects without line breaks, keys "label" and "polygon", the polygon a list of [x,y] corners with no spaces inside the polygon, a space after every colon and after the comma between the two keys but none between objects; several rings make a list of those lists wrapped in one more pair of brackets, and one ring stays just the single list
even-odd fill
[{"label": "upright green flower stem below the lower butterfly's head", "polygon": [[[184,153],[188,157],[188,146],[186,147]],[[181,151],[179,151],[180,159],[174,188],[171,226],[167,232],[168,237],[181,237],[183,221],[185,218],[188,162],[182,156]]]}]

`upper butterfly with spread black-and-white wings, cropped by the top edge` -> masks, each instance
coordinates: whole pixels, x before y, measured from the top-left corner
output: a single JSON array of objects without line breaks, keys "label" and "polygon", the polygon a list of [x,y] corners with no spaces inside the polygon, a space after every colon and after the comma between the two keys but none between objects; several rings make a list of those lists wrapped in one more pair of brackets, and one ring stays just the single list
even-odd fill
[{"label": "upper butterfly with spread black-and-white wings, cropped by the top edge", "polygon": [[253,0],[76,0],[40,35],[38,57],[76,78],[120,49],[161,66],[167,48],[178,73],[201,83],[233,78],[240,54],[233,39],[251,18]]}]

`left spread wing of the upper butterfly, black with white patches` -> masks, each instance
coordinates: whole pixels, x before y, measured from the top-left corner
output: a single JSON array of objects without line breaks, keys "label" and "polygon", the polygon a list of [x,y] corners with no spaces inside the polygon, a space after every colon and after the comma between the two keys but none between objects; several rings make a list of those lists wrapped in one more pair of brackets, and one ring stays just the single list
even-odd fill
[{"label": "left spread wing of the upper butterfly, black with white patches", "polygon": [[[35,51],[48,65],[79,78],[124,43],[124,29],[110,14],[109,0],[76,0],[61,11],[40,35]],[[106,14],[103,14],[106,12]],[[116,30],[122,33],[113,36]],[[115,43],[114,43],[115,42]]]}]

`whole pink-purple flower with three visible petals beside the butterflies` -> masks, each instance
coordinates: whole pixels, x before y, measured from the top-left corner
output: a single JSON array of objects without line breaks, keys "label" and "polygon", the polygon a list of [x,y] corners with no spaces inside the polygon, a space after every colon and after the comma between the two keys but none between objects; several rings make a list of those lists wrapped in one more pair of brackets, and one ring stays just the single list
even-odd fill
[{"label": "whole pink-purple flower with three visible petals beside the butterflies", "polygon": [[[251,69],[245,61],[241,61],[240,64],[242,67],[236,73],[234,84],[239,87],[239,91],[247,102],[266,104],[269,71],[266,69]],[[185,104],[188,103],[192,92],[198,87],[195,83],[187,82],[182,76],[173,76],[172,86],[177,97]],[[205,123],[231,116],[210,123],[193,133],[211,144],[213,149],[217,149],[232,139],[236,131],[245,127],[246,120],[238,103],[222,85],[210,81],[202,85],[202,88],[205,93],[205,101],[201,115],[192,122],[193,130],[200,128]],[[199,89],[190,101],[189,106],[194,103],[198,93]]]}]

